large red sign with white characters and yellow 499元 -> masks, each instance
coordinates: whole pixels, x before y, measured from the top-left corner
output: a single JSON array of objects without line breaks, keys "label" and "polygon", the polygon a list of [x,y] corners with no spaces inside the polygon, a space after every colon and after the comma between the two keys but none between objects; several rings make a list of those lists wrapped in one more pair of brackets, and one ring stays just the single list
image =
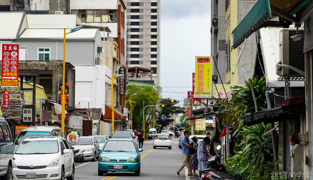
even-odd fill
[{"label": "large red sign with white characters and yellow 499\u5143", "polygon": [[1,43],[1,87],[18,87],[19,44]]}]

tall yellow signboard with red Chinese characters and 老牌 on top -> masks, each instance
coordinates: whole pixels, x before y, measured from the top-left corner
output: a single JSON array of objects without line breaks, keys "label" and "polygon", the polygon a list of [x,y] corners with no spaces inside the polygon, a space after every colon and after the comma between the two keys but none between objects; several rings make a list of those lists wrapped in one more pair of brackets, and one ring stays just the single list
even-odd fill
[{"label": "tall yellow signboard with red Chinese characters and \u8001\u724c on top", "polygon": [[196,56],[195,98],[212,97],[212,56]]}]

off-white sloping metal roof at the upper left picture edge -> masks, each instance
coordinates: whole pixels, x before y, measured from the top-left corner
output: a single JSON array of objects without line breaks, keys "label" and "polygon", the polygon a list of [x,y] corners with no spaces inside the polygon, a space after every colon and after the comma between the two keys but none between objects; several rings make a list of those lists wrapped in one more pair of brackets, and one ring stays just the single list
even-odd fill
[{"label": "off-white sloping metal roof at the upper left picture edge", "polygon": [[0,12],[0,39],[16,39],[24,12]]}]

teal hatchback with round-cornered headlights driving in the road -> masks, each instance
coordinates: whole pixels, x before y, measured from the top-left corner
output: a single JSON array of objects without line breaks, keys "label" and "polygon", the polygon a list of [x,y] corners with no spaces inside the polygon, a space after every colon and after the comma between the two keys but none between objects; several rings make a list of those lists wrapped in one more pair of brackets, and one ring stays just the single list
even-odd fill
[{"label": "teal hatchback with round-cornered headlights driving in the road", "polygon": [[98,162],[99,176],[108,171],[135,172],[135,176],[139,176],[141,165],[139,152],[143,149],[138,149],[131,139],[109,139],[103,149],[98,150],[101,152]]}]

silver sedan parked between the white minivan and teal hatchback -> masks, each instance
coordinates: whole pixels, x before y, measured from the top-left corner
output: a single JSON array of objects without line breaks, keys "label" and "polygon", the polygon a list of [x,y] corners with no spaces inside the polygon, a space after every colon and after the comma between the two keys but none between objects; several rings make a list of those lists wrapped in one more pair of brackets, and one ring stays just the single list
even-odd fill
[{"label": "silver sedan parked between the white minivan and teal hatchback", "polygon": [[91,159],[96,161],[99,159],[100,152],[98,148],[100,147],[98,141],[92,136],[80,136],[77,144],[72,145],[75,149],[83,149],[85,159]]}]

